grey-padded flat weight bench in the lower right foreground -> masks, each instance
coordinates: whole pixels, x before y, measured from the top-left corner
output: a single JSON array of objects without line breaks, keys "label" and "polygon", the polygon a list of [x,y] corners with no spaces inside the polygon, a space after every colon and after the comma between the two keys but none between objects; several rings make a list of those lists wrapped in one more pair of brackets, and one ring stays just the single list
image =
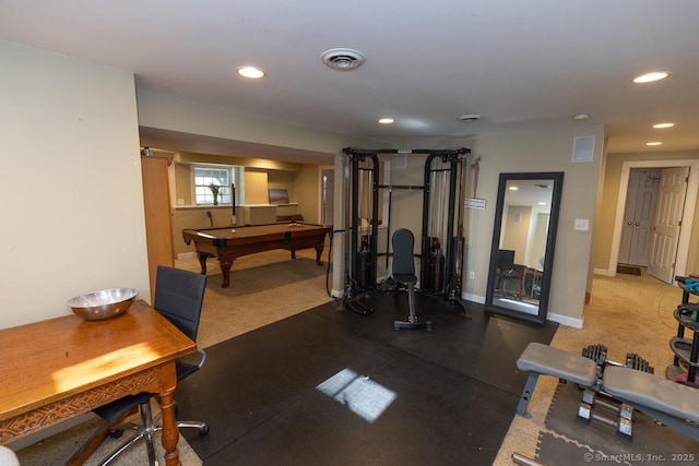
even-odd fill
[{"label": "grey-padded flat weight bench in the lower right foreground", "polygon": [[517,360],[517,367],[530,372],[517,407],[517,414],[522,417],[529,417],[526,408],[538,375],[552,375],[594,392],[604,391],[623,404],[699,441],[697,389],[617,366],[605,367],[600,385],[597,365],[594,360],[541,343],[530,343]]}]

